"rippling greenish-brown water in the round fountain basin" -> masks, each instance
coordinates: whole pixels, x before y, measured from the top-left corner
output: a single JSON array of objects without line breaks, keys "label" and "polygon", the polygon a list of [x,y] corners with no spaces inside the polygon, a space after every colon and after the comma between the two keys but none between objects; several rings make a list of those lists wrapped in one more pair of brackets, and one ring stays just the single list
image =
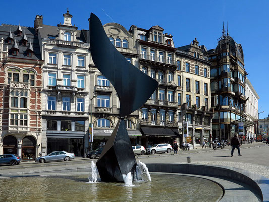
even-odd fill
[{"label": "rippling greenish-brown water in the round fountain basin", "polygon": [[0,198],[2,201],[216,201],[223,193],[219,185],[206,179],[158,174],[152,174],[151,178],[151,182],[133,182],[133,187],[124,183],[86,183],[87,175],[9,178],[0,180]]}]

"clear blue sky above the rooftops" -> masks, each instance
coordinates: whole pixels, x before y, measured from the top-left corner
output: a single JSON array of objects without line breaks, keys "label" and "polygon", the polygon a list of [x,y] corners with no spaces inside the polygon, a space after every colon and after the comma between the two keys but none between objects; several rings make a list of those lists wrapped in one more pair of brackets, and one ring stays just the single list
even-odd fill
[{"label": "clear blue sky above the rooftops", "polygon": [[[131,25],[149,29],[159,25],[171,33],[176,47],[190,44],[194,38],[207,49],[217,46],[223,22],[228,21],[229,34],[243,47],[248,78],[256,89],[260,118],[269,114],[269,1],[2,1],[0,24],[33,26],[36,15],[43,15],[43,23],[56,26],[63,23],[69,8],[72,24],[88,29],[90,13],[103,24],[115,21],[127,30]],[[107,16],[109,15],[109,16]]]}]

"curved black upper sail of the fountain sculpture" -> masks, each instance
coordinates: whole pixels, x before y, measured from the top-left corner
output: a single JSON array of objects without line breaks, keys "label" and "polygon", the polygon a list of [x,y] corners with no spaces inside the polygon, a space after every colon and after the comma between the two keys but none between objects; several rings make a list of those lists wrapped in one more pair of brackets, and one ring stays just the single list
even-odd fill
[{"label": "curved black upper sail of the fountain sculpture", "polygon": [[90,51],[99,71],[112,83],[120,99],[120,116],[131,114],[152,95],[158,82],[129,63],[107,37],[99,18],[90,16]]}]

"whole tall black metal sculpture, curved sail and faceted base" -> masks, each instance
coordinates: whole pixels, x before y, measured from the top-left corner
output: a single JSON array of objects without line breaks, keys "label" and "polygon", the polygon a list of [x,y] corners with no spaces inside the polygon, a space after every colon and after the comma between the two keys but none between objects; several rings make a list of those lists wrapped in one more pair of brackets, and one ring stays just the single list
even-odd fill
[{"label": "whole tall black metal sculpture, curved sail and faceted base", "polygon": [[96,165],[102,181],[123,182],[122,175],[135,173],[137,165],[123,117],[141,107],[157,88],[158,82],[117,51],[93,13],[90,16],[90,51],[95,66],[112,83],[120,100],[120,121]]}]

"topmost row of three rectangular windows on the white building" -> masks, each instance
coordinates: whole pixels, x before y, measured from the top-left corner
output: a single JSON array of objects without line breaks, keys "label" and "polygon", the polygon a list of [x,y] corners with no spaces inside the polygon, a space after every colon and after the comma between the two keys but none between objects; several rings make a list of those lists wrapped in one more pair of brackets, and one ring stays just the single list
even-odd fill
[{"label": "topmost row of three rectangular windows on the white building", "polygon": [[[71,66],[71,54],[63,55],[63,65]],[[57,53],[48,53],[48,63],[57,64]],[[85,67],[85,56],[77,56],[77,66]]]}]

